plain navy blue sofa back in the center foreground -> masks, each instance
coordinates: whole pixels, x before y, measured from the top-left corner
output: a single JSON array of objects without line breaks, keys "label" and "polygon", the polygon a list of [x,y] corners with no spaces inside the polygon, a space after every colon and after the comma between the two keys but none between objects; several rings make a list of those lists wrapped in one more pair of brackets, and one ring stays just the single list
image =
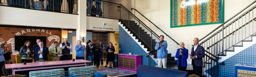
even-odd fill
[{"label": "plain navy blue sofa back in the center foreground", "polygon": [[124,76],[118,76],[118,77],[188,77],[188,72],[160,68],[160,67],[139,65],[136,74],[130,74],[130,75],[124,75]]}]

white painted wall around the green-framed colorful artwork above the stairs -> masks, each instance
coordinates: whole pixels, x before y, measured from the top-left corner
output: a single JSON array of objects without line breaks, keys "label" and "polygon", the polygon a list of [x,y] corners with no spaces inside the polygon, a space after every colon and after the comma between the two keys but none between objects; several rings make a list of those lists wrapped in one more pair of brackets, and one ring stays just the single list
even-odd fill
[{"label": "white painted wall around the green-framed colorful artwork above the stairs", "polygon": [[[125,4],[122,3],[122,1],[127,2],[126,0],[119,1],[121,1],[121,4]],[[134,3],[128,3],[132,5],[131,7],[126,6],[126,8],[131,9],[134,7],[143,15],[145,15],[150,21],[156,24],[160,29],[162,29],[165,33],[167,33],[171,38],[177,42],[183,41],[185,43],[185,47],[189,49],[190,53],[193,45],[192,40],[195,37],[199,39],[203,38],[206,34],[214,30],[220,24],[170,28],[170,1],[171,0],[135,0]],[[253,1],[254,0],[225,0],[224,20],[227,21],[229,18],[231,18],[233,15],[238,13]],[[149,21],[146,21],[145,18],[143,18],[139,13],[135,12],[134,14],[152,30],[154,30],[158,35],[164,35],[160,30],[157,30],[154,25],[150,24]],[[165,40],[168,41],[169,39],[165,37]],[[172,50],[171,53],[176,54],[176,51],[170,47],[176,47],[176,45],[168,45],[168,48]],[[191,64],[191,59],[188,59],[188,64]]]}]

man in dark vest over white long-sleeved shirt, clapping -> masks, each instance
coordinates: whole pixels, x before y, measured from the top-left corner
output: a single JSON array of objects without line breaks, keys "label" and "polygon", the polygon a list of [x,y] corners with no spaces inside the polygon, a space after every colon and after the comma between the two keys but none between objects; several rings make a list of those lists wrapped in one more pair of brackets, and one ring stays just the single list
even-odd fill
[{"label": "man in dark vest over white long-sleeved shirt, clapping", "polygon": [[60,47],[62,49],[62,60],[71,60],[70,57],[70,50],[72,49],[72,46],[70,43],[67,42],[67,39],[64,39],[64,42],[60,44]]}]

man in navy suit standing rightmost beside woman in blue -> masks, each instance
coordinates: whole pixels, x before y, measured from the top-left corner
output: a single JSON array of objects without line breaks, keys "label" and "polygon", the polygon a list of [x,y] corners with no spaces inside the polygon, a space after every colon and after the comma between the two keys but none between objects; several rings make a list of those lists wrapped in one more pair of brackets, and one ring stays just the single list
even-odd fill
[{"label": "man in navy suit standing rightmost beside woman in blue", "polygon": [[192,65],[194,74],[202,77],[203,73],[203,58],[204,58],[204,47],[200,46],[199,39],[195,38],[194,46],[192,47],[190,58],[192,58]]}]

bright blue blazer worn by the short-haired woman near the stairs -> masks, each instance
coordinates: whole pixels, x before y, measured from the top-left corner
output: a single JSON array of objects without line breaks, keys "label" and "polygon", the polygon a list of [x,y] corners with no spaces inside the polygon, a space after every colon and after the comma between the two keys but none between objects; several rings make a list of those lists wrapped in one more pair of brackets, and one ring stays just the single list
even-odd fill
[{"label": "bright blue blazer worn by the short-haired woman near the stairs", "polygon": [[[180,60],[180,49],[177,49],[177,52],[176,52],[176,55],[175,55],[175,58],[178,58],[177,60],[177,65],[179,65],[179,60]],[[187,66],[187,59],[188,59],[188,55],[189,55],[189,50],[186,49],[184,47],[184,49],[182,50],[182,56],[181,56],[181,66],[182,67],[186,67]]]}]

